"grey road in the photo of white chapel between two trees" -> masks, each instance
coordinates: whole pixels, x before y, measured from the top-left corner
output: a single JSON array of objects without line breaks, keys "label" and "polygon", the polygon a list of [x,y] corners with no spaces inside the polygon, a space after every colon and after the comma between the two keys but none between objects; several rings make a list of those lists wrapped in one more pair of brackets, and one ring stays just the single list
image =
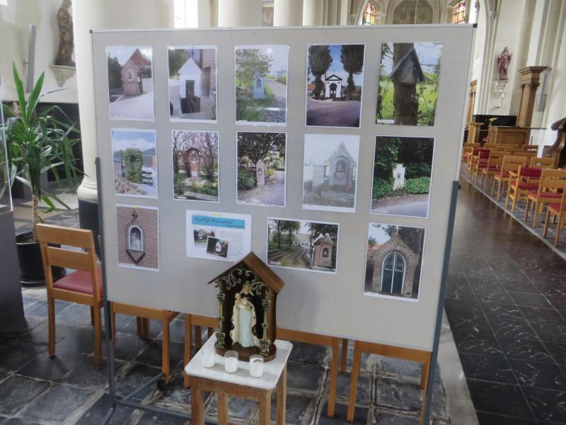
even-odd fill
[{"label": "grey road in the photo of white chapel between two trees", "polygon": [[306,125],[358,127],[360,101],[334,102],[306,99]]}]

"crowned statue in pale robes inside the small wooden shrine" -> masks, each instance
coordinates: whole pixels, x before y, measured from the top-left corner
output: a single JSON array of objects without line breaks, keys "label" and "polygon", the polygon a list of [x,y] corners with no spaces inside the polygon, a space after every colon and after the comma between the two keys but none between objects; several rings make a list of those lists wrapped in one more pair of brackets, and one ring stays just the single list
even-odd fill
[{"label": "crowned statue in pale robes inside the small wooden shrine", "polygon": [[252,297],[252,289],[246,283],[242,290],[236,294],[236,301],[232,310],[233,329],[230,331],[230,338],[233,344],[237,342],[244,348],[260,346],[260,340],[253,333],[257,319]]}]

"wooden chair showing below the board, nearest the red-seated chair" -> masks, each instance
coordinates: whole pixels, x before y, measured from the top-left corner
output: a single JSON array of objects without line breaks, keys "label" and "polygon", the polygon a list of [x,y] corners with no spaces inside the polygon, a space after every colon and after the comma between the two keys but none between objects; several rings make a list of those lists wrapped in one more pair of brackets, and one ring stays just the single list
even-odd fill
[{"label": "wooden chair showing below the board, nearest the red-seated chair", "polygon": [[116,344],[116,314],[129,314],[137,317],[138,336],[149,337],[149,320],[154,319],[161,322],[163,329],[163,347],[161,348],[161,371],[165,383],[169,380],[169,325],[178,316],[178,312],[170,310],[158,310],[156,308],[141,307],[139,305],[124,304],[122,302],[110,302],[110,318],[112,323],[112,341]]}]

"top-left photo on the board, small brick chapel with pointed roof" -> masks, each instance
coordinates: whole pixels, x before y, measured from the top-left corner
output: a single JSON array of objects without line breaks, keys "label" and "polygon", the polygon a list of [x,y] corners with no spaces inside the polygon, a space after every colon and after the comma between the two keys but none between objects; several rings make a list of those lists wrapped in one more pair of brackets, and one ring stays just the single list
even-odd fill
[{"label": "top-left photo on the board, small brick chapel with pointed roof", "polygon": [[151,47],[106,47],[112,120],[154,120]]}]

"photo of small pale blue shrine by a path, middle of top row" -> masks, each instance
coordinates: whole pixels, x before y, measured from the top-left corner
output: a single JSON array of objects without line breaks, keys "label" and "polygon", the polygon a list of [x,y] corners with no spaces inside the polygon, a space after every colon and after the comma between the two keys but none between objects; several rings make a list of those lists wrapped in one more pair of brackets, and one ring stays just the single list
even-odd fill
[{"label": "photo of small pale blue shrine by a path, middle of top row", "polygon": [[287,122],[287,45],[236,46],[236,121]]}]

